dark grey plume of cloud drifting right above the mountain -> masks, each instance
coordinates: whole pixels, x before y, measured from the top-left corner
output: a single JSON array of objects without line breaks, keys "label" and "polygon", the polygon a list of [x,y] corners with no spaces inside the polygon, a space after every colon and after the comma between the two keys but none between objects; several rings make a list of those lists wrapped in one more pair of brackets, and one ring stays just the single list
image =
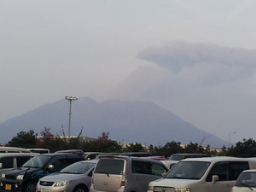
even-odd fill
[{"label": "dark grey plume of cloud drifting right above the mountain", "polygon": [[[227,48],[216,44],[189,44],[173,42],[161,48],[149,48],[137,55],[144,61],[151,61],[159,67],[180,73],[185,67],[195,67],[198,63],[226,67],[243,67],[242,73],[255,67],[256,50]],[[249,72],[249,70],[247,72]]]}]

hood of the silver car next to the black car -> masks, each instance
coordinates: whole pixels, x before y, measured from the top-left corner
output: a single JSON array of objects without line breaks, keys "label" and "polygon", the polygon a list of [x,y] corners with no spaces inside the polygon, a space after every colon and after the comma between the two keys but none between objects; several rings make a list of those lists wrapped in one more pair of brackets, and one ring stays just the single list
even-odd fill
[{"label": "hood of the silver car next to the black car", "polygon": [[54,173],[40,178],[40,181],[56,182],[61,180],[73,180],[80,177],[87,177],[85,174],[71,174],[71,173]]}]

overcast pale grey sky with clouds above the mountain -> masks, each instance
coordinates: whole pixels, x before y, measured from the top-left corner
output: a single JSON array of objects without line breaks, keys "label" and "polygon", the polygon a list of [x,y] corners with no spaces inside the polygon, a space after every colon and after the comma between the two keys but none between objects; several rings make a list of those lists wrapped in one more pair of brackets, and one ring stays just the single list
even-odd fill
[{"label": "overcast pale grey sky with clouds above the mountain", "polygon": [[256,140],[255,9],[252,0],[1,0],[0,122],[90,96],[151,101],[231,143]]}]

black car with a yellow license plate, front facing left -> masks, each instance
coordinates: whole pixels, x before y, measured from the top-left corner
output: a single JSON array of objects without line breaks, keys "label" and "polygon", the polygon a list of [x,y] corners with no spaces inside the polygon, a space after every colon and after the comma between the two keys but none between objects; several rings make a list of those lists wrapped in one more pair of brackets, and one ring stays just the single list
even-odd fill
[{"label": "black car with a yellow license plate, front facing left", "polygon": [[35,192],[39,178],[59,172],[80,160],[85,160],[84,155],[39,154],[20,168],[4,172],[0,178],[0,191]]}]

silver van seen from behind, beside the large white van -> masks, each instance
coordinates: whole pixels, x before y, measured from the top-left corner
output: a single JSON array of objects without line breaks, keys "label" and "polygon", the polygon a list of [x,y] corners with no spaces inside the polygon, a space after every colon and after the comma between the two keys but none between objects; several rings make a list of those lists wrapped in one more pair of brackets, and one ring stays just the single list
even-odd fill
[{"label": "silver van seen from behind, beside the large white van", "polygon": [[90,192],[147,192],[148,183],[163,177],[167,171],[160,160],[101,155],[93,173]]}]

